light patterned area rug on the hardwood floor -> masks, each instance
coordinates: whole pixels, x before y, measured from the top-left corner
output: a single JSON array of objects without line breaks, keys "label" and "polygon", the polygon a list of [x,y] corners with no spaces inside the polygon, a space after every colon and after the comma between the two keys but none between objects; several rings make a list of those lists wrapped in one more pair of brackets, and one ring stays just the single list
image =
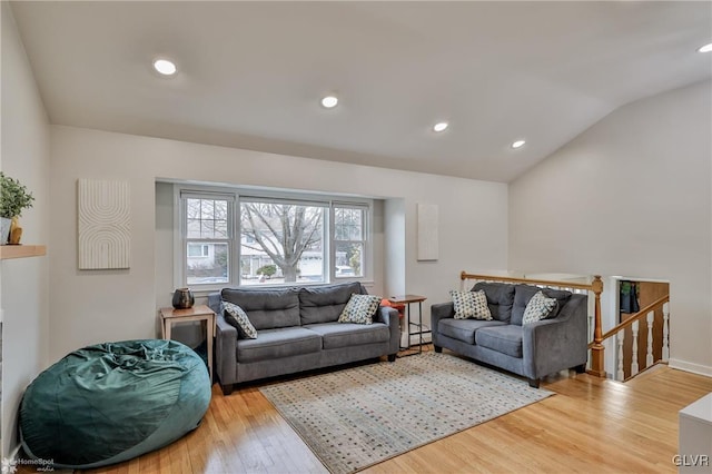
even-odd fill
[{"label": "light patterned area rug on the hardwood floor", "polygon": [[553,395],[436,353],[259,391],[335,474],[360,471]]}]

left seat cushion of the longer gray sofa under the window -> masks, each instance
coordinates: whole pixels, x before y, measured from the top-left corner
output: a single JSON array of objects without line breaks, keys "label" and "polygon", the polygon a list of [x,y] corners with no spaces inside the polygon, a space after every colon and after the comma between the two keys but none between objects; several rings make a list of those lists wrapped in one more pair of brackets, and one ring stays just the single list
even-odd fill
[{"label": "left seat cushion of the longer gray sofa under the window", "polygon": [[297,327],[264,329],[257,339],[237,340],[237,362],[271,361],[322,350],[322,336]]}]

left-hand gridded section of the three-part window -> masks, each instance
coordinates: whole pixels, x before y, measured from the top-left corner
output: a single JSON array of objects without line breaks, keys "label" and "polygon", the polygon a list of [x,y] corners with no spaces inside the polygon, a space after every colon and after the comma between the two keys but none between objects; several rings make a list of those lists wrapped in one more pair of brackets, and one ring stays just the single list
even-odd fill
[{"label": "left-hand gridded section of the three-part window", "polygon": [[184,191],[180,198],[185,284],[229,283],[234,197]]}]

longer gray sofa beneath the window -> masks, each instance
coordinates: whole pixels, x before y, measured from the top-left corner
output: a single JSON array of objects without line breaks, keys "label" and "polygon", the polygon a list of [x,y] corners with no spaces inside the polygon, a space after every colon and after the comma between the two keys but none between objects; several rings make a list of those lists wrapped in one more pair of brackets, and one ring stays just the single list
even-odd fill
[{"label": "longer gray sofa beneath the window", "polygon": [[[388,356],[395,361],[400,327],[398,312],[379,307],[373,324],[338,323],[352,294],[366,294],[359,283],[280,289],[225,288],[208,296],[217,316],[216,373],[222,393],[233,384],[313,368]],[[256,339],[238,338],[225,320],[221,302],[240,306],[257,329]]]}]

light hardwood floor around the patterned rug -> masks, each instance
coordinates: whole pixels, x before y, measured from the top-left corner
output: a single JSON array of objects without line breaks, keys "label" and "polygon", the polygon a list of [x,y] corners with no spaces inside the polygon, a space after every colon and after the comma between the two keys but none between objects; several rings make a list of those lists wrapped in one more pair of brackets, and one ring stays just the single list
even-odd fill
[{"label": "light hardwood floor around the patterned rug", "polygon": [[[225,397],[215,385],[198,429],[158,452],[88,472],[326,473],[258,386]],[[660,365],[625,384],[572,371],[542,387],[556,395],[365,472],[673,473],[678,412],[712,392],[712,378]]]}]

